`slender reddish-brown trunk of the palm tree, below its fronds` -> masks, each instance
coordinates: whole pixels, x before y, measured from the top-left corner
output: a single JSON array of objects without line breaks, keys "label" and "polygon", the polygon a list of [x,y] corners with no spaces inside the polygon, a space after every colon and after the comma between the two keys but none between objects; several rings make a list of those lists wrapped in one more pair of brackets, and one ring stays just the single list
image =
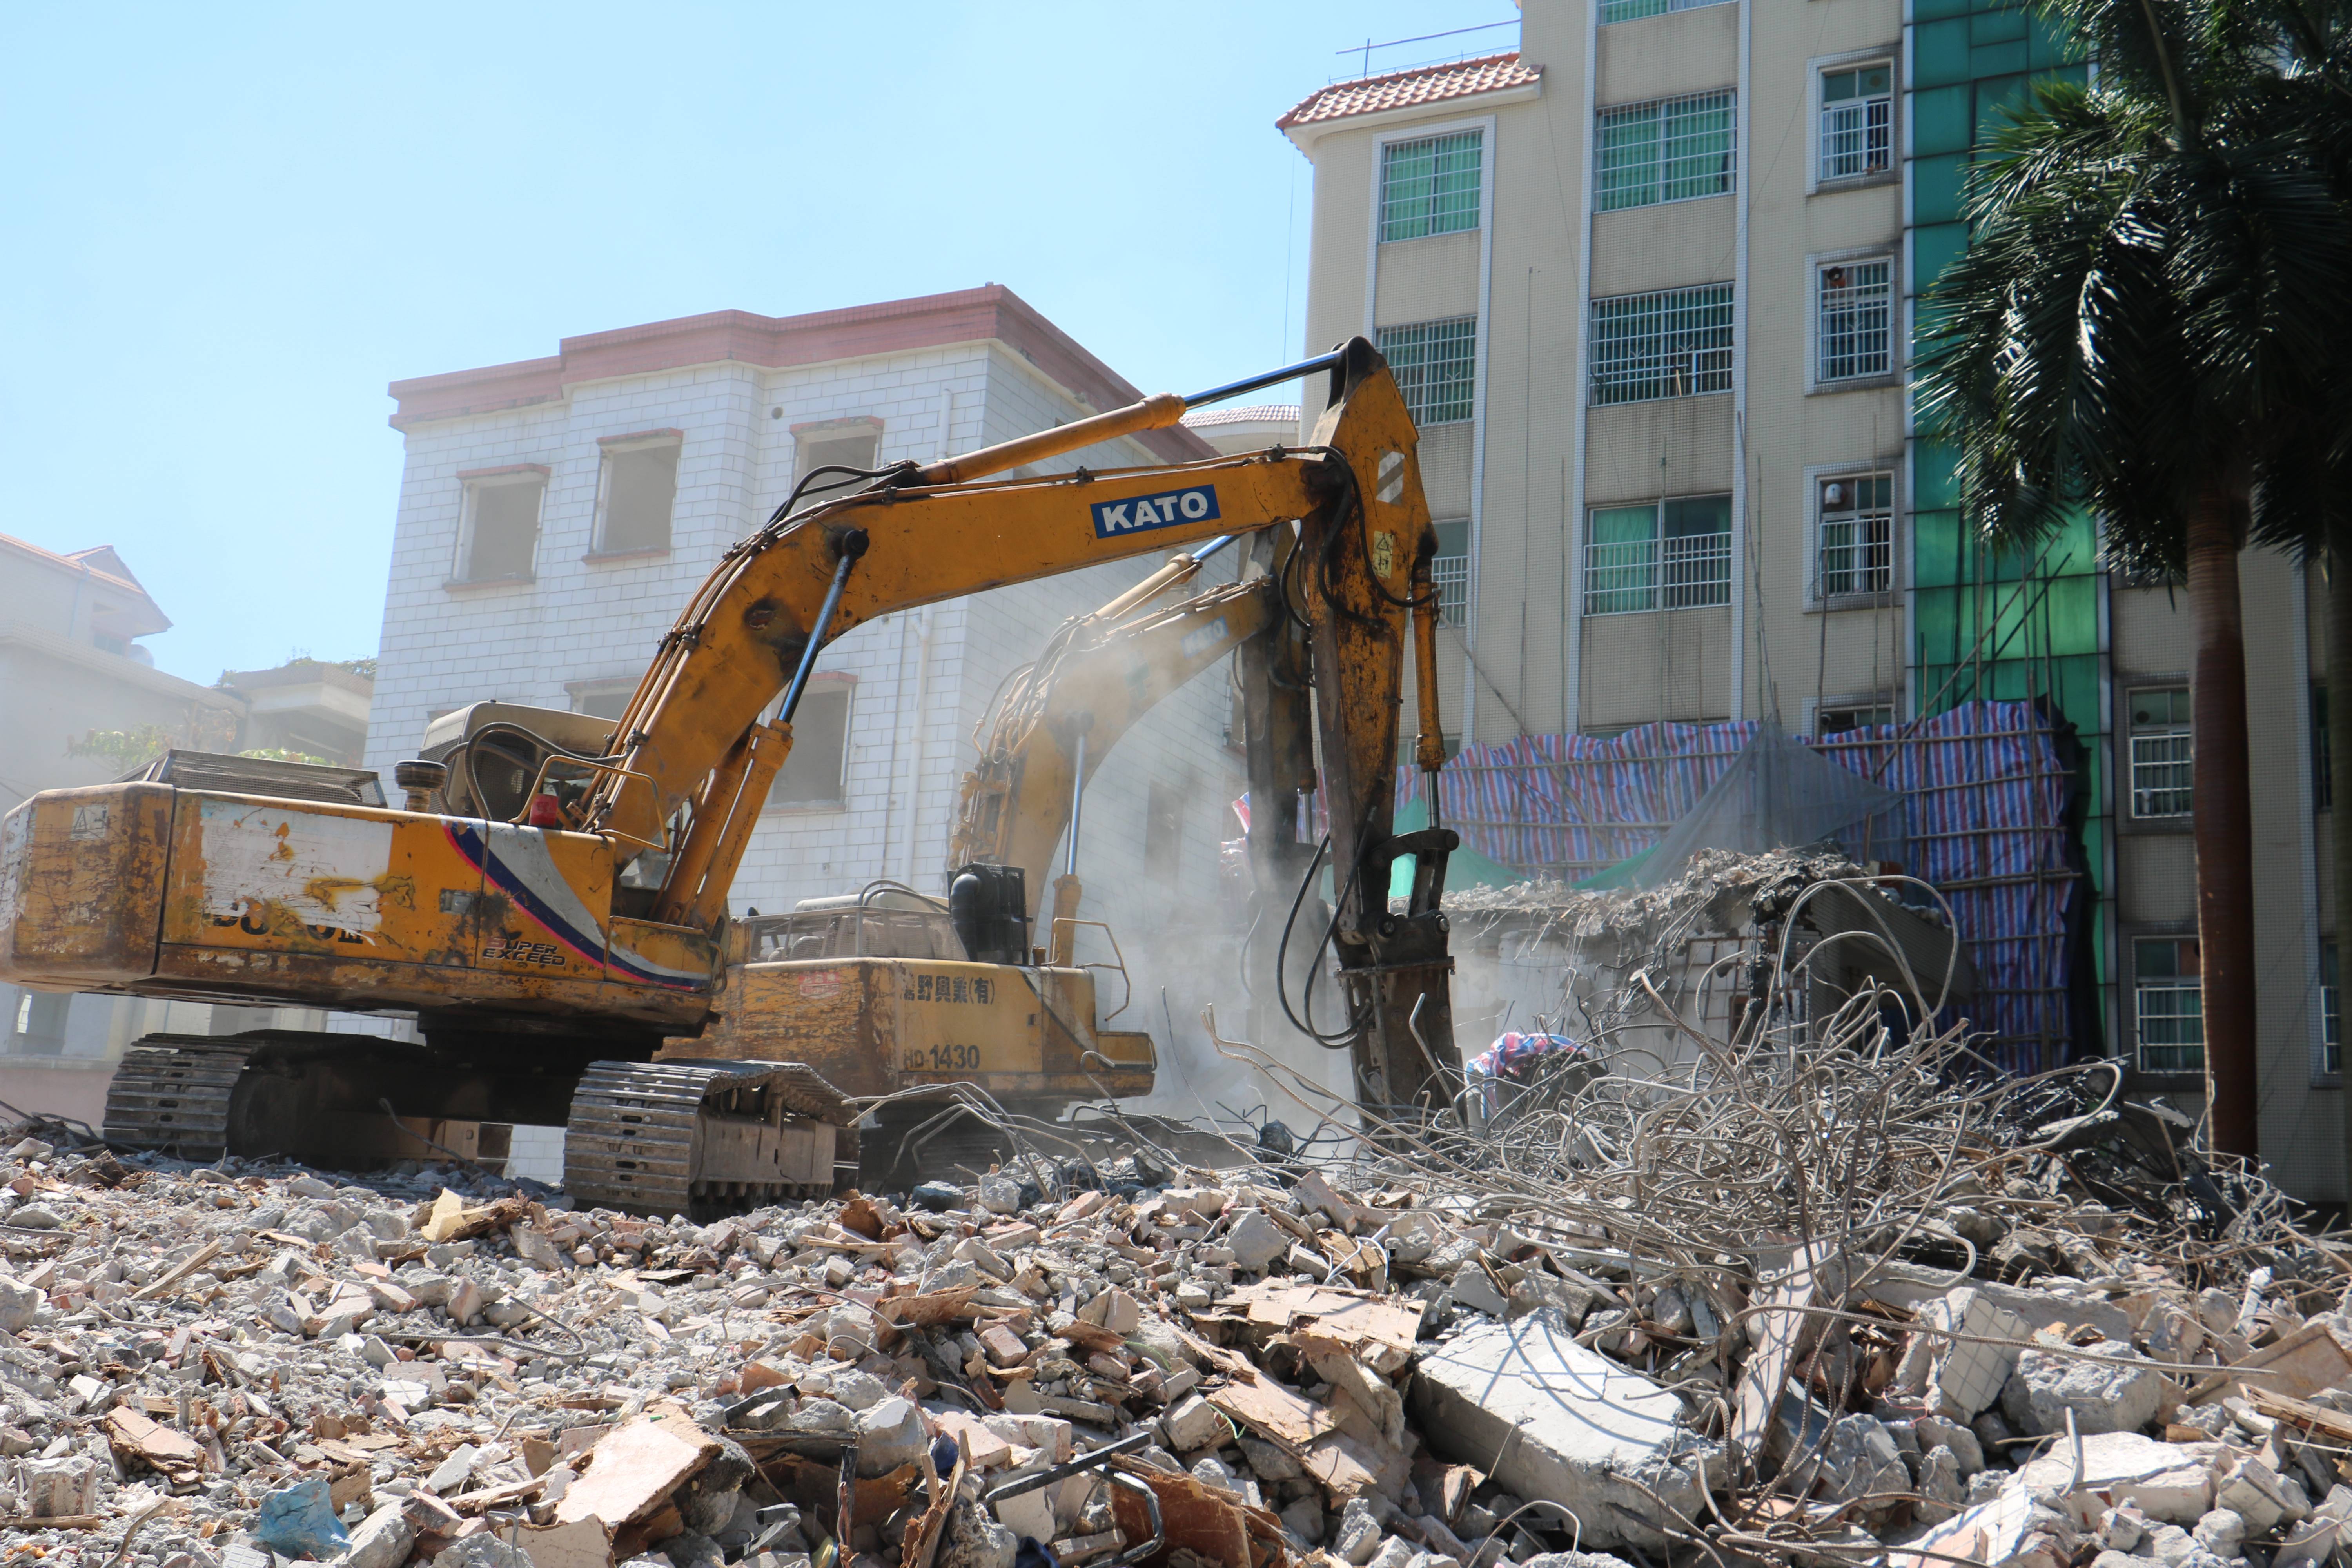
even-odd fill
[{"label": "slender reddish-brown trunk of the palm tree, below its fronds", "polygon": [[2204,969],[2206,1112],[2213,1147],[2256,1152],[2253,797],[2246,778],[2246,632],[2237,552],[2246,498],[2204,496],[2190,512],[2187,590],[2197,670],[2197,952]]}]

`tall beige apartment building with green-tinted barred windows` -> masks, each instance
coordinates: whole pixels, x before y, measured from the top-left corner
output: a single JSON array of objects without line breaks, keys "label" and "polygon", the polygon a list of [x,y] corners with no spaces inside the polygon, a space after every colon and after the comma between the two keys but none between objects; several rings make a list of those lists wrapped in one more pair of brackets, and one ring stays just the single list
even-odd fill
[{"label": "tall beige apartment building with green-tinted barred windows", "polygon": [[[2084,743],[2103,1006],[2074,1046],[2194,1107],[2187,611],[2089,522],[1983,548],[1907,397],[1973,150],[2084,68],[1997,0],[1524,0],[1519,28],[1277,120],[1315,167],[1303,348],[1371,336],[1423,428],[1446,731],[2046,701]],[[2340,1199],[2314,585],[2244,574],[2263,1150]]]}]

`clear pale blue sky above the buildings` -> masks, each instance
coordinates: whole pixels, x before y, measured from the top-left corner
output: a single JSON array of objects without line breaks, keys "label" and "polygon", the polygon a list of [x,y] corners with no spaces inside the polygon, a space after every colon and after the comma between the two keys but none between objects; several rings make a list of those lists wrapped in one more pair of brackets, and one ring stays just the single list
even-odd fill
[{"label": "clear pale blue sky above the buildings", "polygon": [[1143,390],[1270,369],[1308,223],[1275,115],[1341,47],[1515,16],[19,0],[0,534],[120,548],[174,621],[158,663],[212,682],[376,649],[400,376],[981,282]]}]

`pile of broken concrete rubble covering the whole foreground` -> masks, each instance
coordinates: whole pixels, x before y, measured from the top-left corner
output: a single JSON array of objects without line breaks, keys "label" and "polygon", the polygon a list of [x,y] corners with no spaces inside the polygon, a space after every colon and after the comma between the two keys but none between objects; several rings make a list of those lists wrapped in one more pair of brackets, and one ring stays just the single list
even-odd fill
[{"label": "pile of broken concrete rubble covering the whole foreground", "polygon": [[1348,1161],[708,1225],[45,1128],[0,1145],[5,1561],[2331,1559],[2352,1248],[2159,1107],[1842,1027]]}]

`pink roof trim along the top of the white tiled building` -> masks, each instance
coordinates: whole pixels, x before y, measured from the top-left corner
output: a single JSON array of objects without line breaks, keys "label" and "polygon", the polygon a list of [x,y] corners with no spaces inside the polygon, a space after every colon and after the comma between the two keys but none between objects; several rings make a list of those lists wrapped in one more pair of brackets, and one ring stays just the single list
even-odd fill
[{"label": "pink roof trim along the top of the white tiled building", "polygon": [[[687,364],[741,360],[781,369],[990,339],[1007,343],[1051,381],[1082,393],[1098,411],[1141,397],[1124,376],[1044,320],[1028,301],[1004,284],[990,282],[978,289],[891,299],[847,310],[811,310],[807,315],[713,310],[616,331],[590,331],[564,339],[560,353],[546,360],[393,381],[388,390],[400,400],[400,407],[393,411],[390,425],[407,430],[433,418],[557,402],[567,386],[581,381],[647,376]],[[1136,440],[1169,463],[1216,456],[1209,442],[1183,428],[1145,430]]]}]

